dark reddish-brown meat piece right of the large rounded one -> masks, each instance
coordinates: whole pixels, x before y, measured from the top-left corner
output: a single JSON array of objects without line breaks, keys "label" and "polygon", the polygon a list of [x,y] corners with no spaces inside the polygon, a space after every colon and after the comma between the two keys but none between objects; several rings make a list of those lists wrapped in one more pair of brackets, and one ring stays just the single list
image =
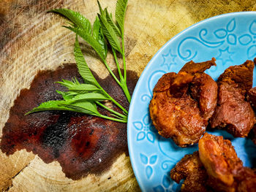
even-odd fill
[{"label": "dark reddish-brown meat piece right of the large rounded one", "polygon": [[210,123],[212,128],[226,129],[234,137],[246,137],[255,124],[255,112],[245,94],[252,88],[254,64],[246,61],[230,66],[219,76],[218,104]]}]

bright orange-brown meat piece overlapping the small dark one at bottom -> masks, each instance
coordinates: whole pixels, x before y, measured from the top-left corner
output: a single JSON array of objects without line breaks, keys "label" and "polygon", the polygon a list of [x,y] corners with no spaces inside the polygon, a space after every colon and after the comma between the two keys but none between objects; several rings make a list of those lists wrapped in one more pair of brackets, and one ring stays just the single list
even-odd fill
[{"label": "bright orange-brown meat piece overlapping the small dark one at bottom", "polygon": [[200,160],[205,166],[211,185],[219,191],[234,191],[233,174],[243,167],[230,140],[211,134],[204,134],[198,142]]}]

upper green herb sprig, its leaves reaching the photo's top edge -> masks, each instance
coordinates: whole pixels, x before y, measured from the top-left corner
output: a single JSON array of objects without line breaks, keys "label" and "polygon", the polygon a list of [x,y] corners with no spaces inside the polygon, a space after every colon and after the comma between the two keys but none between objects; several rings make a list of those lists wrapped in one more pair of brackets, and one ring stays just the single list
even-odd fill
[{"label": "upper green herb sprig, its leaves reaching the photo's top edge", "polygon": [[[64,26],[71,31],[74,31],[75,34],[78,34],[82,37],[91,47],[94,48],[96,53],[101,58],[103,64],[105,64],[108,72],[113,76],[118,85],[123,89],[127,100],[131,101],[131,96],[127,88],[127,72],[126,72],[126,61],[124,53],[124,15],[127,9],[127,0],[118,0],[116,2],[116,22],[113,21],[112,14],[108,12],[108,9],[102,9],[99,4],[99,13],[97,18],[94,21],[94,28],[91,29],[91,23],[87,18],[84,18],[83,15],[80,15],[79,12],[74,12],[70,9],[53,9],[49,12],[58,13],[64,18],[67,18],[71,21],[70,26]],[[107,41],[106,41],[107,40]],[[116,66],[118,69],[119,80],[115,74],[113,74],[110,66],[106,61],[108,55],[108,46],[107,42],[113,51],[113,55],[116,61]],[[118,64],[118,59],[116,57],[116,51],[121,53],[123,57],[124,64],[124,75],[121,74],[120,65]]]}]

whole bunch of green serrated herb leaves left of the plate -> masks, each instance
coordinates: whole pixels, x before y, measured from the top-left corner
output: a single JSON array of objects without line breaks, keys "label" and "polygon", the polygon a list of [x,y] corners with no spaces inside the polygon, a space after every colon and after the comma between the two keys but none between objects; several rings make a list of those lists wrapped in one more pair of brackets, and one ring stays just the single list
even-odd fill
[{"label": "whole bunch of green serrated herb leaves left of the plate", "polygon": [[[99,4],[99,1],[98,1]],[[74,12],[70,9],[53,9],[49,12],[58,13],[64,18],[69,20],[70,26],[64,26],[76,34],[74,55],[75,61],[78,66],[78,72],[85,83],[80,83],[76,78],[72,81],[62,80],[59,84],[65,86],[68,91],[56,91],[61,94],[64,100],[61,101],[47,101],[35,107],[33,110],[26,113],[26,115],[32,112],[41,112],[47,110],[68,110],[72,112],[82,112],[88,115],[95,115],[100,118],[106,118],[108,120],[115,120],[121,123],[127,123],[127,110],[121,106],[115,99],[113,99],[95,79],[91,73],[89,66],[86,64],[83,58],[83,53],[80,49],[78,42],[78,36],[86,40],[89,45],[96,51],[99,58],[103,61],[110,74],[116,80],[118,85],[124,91],[127,100],[130,102],[131,96],[127,88],[127,72],[126,62],[124,54],[124,15],[127,9],[127,0],[118,0],[116,3],[116,23],[114,23],[112,15],[108,10],[104,10],[99,4],[99,14],[97,15],[93,27],[89,20],[79,12]],[[109,65],[107,64],[106,57],[108,55],[108,45],[110,45],[113,52],[116,66],[118,69],[119,80],[115,74],[113,74]],[[118,64],[118,58],[116,51],[123,56],[124,75],[121,74],[121,69]],[[112,101],[119,107],[123,114],[116,112],[115,110],[106,107],[105,101]],[[97,110],[97,105],[103,107],[110,112],[110,116],[102,115]]]}]

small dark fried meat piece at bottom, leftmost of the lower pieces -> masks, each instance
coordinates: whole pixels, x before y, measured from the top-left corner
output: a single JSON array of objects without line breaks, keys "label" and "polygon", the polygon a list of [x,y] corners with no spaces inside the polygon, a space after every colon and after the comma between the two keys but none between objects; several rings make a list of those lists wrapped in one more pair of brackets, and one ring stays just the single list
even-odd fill
[{"label": "small dark fried meat piece at bottom, leftmost of the lower pieces", "polygon": [[206,186],[208,174],[200,161],[198,151],[194,152],[192,155],[185,155],[171,170],[170,177],[176,183],[180,183],[181,180],[184,180],[184,183],[181,185],[182,192],[211,191],[211,189]]}]

